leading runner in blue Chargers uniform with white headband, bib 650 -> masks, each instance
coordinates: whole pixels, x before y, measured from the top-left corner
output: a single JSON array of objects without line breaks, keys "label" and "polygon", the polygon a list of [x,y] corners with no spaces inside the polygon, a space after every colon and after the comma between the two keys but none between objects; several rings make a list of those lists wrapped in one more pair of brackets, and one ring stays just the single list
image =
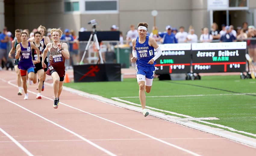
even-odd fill
[{"label": "leading runner in blue Chargers uniform with white headband, bib 650", "polygon": [[[139,84],[139,100],[142,107],[142,113],[146,117],[149,112],[146,107],[146,96],[150,92],[154,74],[155,60],[162,55],[162,50],[154,38],[147,36],[148,24],[143,22],[138,24],[139,37],[132,40],[133,57],[131,62],[136,61],[136,77]],[[157,53],[154,55],[154,49]]]}]

